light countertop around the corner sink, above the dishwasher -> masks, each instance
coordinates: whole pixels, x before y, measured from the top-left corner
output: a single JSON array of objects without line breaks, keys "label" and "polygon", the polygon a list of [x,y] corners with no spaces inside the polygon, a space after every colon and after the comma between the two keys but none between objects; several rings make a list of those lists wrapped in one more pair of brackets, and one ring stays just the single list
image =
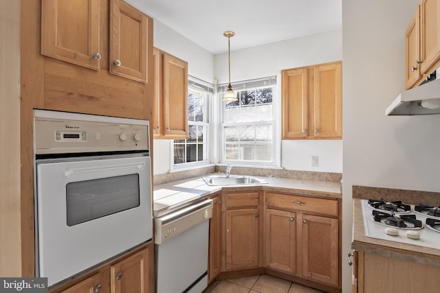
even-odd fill
[{"label": "light countertop around the corner sink, above the dishwasher", "polygon": [[[224,175],[215,173],[207,174]],[[241,190],[264,190],[281,193],[292,193],[322,196],[326,198],[342,198],[341,187],[339,182],[321,181],[321,180],[303,180],[294,178],[275,178],[252,176],[254,178],[263,179],[267,183],[259,185],[228,185],[228,186],[208,186],[200,176],[186,178],[184,180],[173,181],[161,185],[155,185],[153,190],[153,211],[154,216],[159,217],[170,211],[180,209],[191,202],[202,200],[206,196],[215,194],[216,192],[241,191]]]}]

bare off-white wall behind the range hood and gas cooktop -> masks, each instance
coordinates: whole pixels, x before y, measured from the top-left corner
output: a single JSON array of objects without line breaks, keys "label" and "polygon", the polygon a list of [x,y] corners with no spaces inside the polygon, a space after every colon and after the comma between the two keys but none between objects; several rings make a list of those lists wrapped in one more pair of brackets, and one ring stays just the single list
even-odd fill
[{"label": "bare off-white wall behind the range hood and gas cooktop", "polygon": [[352,185],[440,191],[440,115],[384,115],[404,91],[405,31],[418,3],[342,0],[342,292],[351,292]]}]

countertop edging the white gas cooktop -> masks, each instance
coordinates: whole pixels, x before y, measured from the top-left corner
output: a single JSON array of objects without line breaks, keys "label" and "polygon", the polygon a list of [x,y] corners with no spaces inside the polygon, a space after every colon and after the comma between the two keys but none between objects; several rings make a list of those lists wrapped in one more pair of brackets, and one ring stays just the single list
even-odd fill
[{"label": "countertop edging the white gas cooktop", "polygon": [[353,198],[353,242],[351,248],[366,253],[376,253],[386,257],[440,266],[440,244],[439,249],[435,249],[367,237],[364,230],[361,202],[362,199]]}]

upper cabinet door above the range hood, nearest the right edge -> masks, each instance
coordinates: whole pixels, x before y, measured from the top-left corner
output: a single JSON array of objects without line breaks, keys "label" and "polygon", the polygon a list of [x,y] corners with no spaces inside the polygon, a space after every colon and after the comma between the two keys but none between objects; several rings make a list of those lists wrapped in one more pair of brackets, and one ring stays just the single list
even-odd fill
[{"label": "upper cabinet door above the range hood, nearest the right edge", "polygon": [[427,71],[440,58],[440,1],[420,3],[420,73]]}]

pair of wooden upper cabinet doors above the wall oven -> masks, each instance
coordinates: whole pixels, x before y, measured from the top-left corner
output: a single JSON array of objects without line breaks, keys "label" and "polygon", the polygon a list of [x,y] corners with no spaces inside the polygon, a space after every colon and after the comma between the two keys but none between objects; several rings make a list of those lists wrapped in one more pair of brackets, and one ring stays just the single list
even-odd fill
[{"label": "pair of wooden upper cabinet doors above the wall oven", "polygon": [[146,83],[148,23],[122,0],[43,0],[41,54]]}]

